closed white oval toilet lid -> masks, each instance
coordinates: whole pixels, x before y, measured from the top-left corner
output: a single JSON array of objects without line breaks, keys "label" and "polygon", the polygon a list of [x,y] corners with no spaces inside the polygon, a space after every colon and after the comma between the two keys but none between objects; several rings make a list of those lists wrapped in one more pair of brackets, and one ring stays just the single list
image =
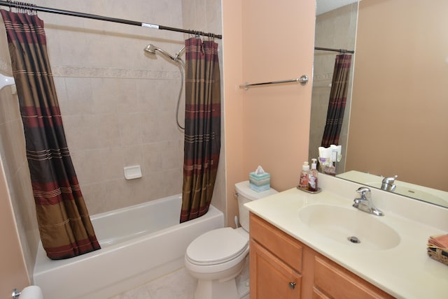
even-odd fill
[{"label": "closed white oval toilet lid", "polygon": [[187,248],[186,256],[192,263],[214,265],[232,260],[247,247],[248,240],[235,229],[218,228],[193,240]]}]

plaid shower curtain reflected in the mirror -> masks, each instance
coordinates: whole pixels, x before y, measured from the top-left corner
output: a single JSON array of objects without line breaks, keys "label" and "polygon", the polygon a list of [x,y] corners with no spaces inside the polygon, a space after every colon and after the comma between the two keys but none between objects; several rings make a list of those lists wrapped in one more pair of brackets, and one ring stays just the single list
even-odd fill
[{"label": "plaid shower curtain reflected in the mirror", "polygon": [[344,111],[349,90],[351,54],[339,54],[335,60],[335,70],[331,82],[330,101],[328,102],[327,120],[322,136],[322,147],[339,145]]}]

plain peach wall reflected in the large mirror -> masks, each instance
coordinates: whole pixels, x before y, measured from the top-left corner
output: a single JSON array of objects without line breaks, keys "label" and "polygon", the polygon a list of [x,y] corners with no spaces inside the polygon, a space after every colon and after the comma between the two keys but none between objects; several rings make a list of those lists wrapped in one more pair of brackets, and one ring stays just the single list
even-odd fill
[{"label": "plain peach wall reflected in the large mirror", "polygon": [[448,191],[448,2],[363,0],[347,170]]}]

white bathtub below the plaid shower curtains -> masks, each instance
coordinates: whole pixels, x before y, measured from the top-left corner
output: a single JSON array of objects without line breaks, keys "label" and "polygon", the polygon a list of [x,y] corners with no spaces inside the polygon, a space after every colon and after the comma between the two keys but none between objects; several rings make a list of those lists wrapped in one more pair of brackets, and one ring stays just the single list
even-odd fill
[{"label": "white bathtub below the plaid shower curtains", "polygon": [[93,215],[102,249],[52,261],[39,245],[34,284],[45,299],[102,299],[182,268],[190,242],[223,227],[224,217],[210,205],[204,216],[179,224],[180,211],[178,195]]}]

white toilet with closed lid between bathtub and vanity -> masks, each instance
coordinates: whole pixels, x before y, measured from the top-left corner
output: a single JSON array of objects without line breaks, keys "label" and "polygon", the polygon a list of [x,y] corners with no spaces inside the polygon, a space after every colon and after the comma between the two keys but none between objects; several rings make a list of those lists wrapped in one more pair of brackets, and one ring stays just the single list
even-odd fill
[{"label": "white toilet with closed lid between bathtub and vanity", "polygon": [[[272,194],[274,189],[256,192],[249,182],[235,184],[239,208],[239,228],[218,228],[197,237],[188,245],[185,266],[197,278],[195,299],[248,298],[248,277],[236,279],[248,268],[249,211],[244,203]],[[237,282],[237,280],[239,280]]]}]

